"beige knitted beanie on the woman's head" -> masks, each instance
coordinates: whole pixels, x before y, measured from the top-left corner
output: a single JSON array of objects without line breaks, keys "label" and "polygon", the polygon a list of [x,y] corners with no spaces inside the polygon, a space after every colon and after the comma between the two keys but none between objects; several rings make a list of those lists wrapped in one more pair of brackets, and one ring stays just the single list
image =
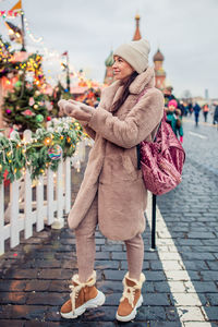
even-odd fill
[{"label": "beige knitted beanie on the woman's head", "polygon": [[148,40],[142,38],[137,41],[121,45],[113,51],[113,57],[122,57],[138,74],[141,74],[148,68],[149,51],[150,46]]}]

